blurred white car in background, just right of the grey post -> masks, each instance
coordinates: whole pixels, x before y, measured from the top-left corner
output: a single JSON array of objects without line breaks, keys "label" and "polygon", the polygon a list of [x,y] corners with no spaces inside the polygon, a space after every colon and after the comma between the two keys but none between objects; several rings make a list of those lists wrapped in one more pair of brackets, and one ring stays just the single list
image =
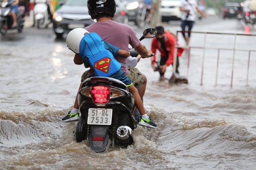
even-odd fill
[{"label": "blurred white car in background, just right of the grey post", "polygon": [[181,19],[180,2],[181,0],[161,0],[160,14],[163,22]]}]

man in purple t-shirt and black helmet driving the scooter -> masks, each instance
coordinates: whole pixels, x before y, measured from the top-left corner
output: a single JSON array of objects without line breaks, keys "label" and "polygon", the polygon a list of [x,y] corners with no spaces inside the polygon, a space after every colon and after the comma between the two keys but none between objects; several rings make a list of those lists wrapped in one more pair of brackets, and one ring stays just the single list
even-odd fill
[{"label": "man in purple t-shirt and black helmet driving the scooter", "polygon": [[[128,46],[130,44],[132,48],[136,49],[136,51],[139,53],[139,55],[142,56],[142,58],[152,56],[152,51],[146,49],[145,45],[140,43],[140,40],[138,39],[136,33],[129,25],[121,24],[111,20],[116,12],[115,0],[106,0],[105,2],[101,0],[88,0],[87,6],[88,12],[92,20],[96,19],[97,22],[85,27],[86,30],[88,30],[89,32],[98,33],[103,41],[107,41],[112,45],[118,46],[122,50],[128,50]],[[117,55],[115,58],[120,64],[122,64],[122,71],[124,72],[124,74],[126,74],[128,78],[130,78],[130,80],[132,80],[132,83],[138,89],[140,97],[142,98],[146,89],[144,75],[139,72],[138,69],[135,67],[131,67],[128,69],[125,66],[126,57]],[[82,58],[79,54],[76,54],[74,56],[74,63],[79,65],[83,64]],[[82,75],[82,82],[93,74],[93,69],[86,71]],[[68,119],[73,117],[77,117],[77,119],[79,119],[77,98],[78,95],[76,96],[74,108],[68,113],[66,117],[62,119],[62,121],[67,122]],[[147,114],[142,115],[140,121],[143,123],[147,123],[149,126],[152,122]]]}]

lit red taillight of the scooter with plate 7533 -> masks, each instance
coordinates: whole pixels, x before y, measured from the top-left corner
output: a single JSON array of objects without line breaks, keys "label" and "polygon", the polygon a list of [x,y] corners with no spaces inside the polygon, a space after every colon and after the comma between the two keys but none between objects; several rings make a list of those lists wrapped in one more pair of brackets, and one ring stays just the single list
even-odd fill
[{"label": "lit red taillight of the scooter with plate 7533", "polygon": [[91,95],[95,103],[106,103],[110,99],[110,90],[106,86],[93,86]]}]

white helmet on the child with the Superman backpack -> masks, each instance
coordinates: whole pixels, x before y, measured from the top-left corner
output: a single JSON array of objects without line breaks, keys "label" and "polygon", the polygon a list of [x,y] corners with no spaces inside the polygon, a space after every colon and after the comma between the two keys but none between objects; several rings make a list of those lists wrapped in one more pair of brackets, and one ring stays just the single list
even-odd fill
[{"label": "white helmet on the child with the Superman backpack", "polygon": [[74,53],[79,53],[79,45],[86,33],[89,33],[84,28],[75,28],[72,29],[66,38],[67,46],[70,50],[72,50]]}]

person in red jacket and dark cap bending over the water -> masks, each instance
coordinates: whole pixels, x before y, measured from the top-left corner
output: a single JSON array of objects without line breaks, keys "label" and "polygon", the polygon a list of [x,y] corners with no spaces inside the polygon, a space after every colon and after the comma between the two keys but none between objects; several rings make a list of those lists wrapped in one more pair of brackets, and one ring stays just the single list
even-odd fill
[{"label": "person in red jacket and dark cap bending over the water", "polygon": [[[151,51],[156,54],[156,49],[160,51],[161,59],[160,63],[156,62],[156,55],[154,57],[151,57],[152,61],[152,67],[154,71],[159,71],[160,73],[160,79],[164,78],[164,73],[166,71],[166,67],[170,64],[173,64],[174,60],[174,47],[175,47],[175,36],[172,35],[169,31],[164,30],[164,27],[158,26],[156,27],[157,35],[152,40],[151,43]],[[181,56],[182,51],[184,49],[178,49],[177,56]],[[177,63],[176,63],[176,73],[179,73],[178,71],[179,66],[179,59],[177,57]]]}]

